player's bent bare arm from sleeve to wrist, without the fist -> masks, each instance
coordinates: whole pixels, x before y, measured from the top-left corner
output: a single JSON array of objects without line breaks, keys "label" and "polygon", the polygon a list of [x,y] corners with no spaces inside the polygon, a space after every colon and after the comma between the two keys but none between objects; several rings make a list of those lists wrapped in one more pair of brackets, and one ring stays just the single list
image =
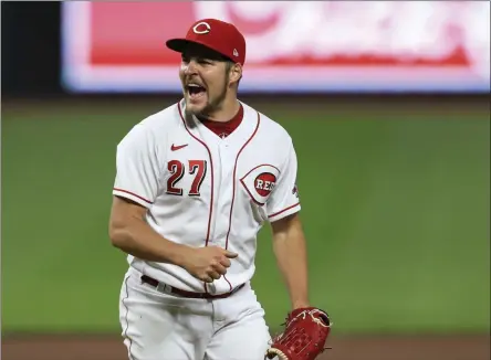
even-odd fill
[{"label": "player's bent bare arm from sleeve to wrist, without the fist", "polygon": [[115,198],[109,221],[113,245],[142,260],[180,266],[188,246],[160,236],[146,223],[144,214],[142,207]]}]

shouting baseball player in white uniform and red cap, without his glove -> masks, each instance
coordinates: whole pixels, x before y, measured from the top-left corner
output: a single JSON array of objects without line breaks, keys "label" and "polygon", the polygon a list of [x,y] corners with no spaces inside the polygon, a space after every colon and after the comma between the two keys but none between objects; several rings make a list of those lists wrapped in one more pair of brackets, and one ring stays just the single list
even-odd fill
[{"label": "shouting baseball player in white uniform and red cap, without his glove", "polygon": [[245,41],[234,25],[200,20],[166,44],[181,53],[184,98],[134,126],[116,151],[109,237],[128,254],[128,357],[263,359],[272,339],[250,280],[264,222],[292,310],[310,306],[294,146],[237,97]]}]

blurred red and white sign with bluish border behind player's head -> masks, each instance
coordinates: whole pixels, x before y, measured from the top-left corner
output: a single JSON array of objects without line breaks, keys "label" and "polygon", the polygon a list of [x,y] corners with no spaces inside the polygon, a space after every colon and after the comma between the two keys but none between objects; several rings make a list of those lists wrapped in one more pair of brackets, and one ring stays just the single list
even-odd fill
[{"label": "blurred red and white sign with bluish border behind player's head", "polygon": [[64,86],[179,92],[165,41],[202,18],[244,33],[242,92],[490,91],[489,1],[66,1]]}]

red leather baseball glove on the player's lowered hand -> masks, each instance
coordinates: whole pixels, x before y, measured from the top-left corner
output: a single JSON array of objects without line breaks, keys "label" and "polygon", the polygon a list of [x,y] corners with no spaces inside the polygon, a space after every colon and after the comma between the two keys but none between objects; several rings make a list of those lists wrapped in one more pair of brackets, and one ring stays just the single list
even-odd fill
[{"label": "red leather baseball glove on the player's lowered hand", "polygon": [[291,311],[286,317],[284,331],[274,337],[264,359],[314,360],[325,349],[331,331],[327,313],[315,307]]}]

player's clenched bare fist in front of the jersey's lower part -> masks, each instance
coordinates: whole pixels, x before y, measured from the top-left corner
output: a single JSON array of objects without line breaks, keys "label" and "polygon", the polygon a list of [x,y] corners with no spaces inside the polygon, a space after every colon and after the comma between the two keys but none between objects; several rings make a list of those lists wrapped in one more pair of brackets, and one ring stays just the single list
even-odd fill
[{"label": "player's clenched bare fist in front of the jersey's lower part", "polygon": [[236,258],[237,253],[218,246],[191,248],[184,260],[182,267],[196,278],[212,283],[227,274],[230,267],[230,258]]}]

